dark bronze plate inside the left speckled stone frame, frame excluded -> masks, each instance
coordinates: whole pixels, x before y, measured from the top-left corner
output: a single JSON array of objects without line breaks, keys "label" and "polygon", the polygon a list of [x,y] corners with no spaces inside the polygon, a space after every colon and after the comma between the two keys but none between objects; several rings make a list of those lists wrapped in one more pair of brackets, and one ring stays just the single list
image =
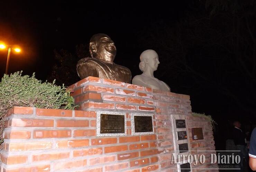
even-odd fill
[{"label": "dark bronze plate inside the left speckled stone frame, frame excluded", "polygon": [[125,116],[100,114],[100,133],[125,133]]}]

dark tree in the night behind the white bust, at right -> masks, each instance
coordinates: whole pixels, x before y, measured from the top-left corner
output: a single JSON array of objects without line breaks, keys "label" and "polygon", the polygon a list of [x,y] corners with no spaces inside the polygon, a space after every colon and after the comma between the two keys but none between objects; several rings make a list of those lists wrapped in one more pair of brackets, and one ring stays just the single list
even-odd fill
[{"label": "dark tree in the night behind the white bust, at right", "polygon": [[153,23],[149,35],[140,35],[145,46],[158,50],[158,77],[170,78],[171,88],[183,87],[191,96],[212,90],[252,115],[256,111],[256,4],[239,2],[208,0],[207,9],[202,2],[194,3],[191,8],[199,9],[198,13],[192,11],[174,25]]}]

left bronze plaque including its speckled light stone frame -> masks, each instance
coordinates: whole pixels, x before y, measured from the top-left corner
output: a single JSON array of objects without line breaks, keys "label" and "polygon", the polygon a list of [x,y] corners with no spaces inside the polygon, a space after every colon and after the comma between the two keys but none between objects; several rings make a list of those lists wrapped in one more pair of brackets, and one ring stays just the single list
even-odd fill
[{"label": "left bronze plaque including its speckled light stone frame", "polygon": [[126,136],[126,113],[97,111],[97,136]]}]

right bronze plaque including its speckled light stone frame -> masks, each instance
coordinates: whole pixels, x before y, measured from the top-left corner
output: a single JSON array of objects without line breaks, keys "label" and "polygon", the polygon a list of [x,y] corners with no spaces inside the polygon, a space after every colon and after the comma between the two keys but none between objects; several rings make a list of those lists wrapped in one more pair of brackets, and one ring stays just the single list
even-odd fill
[{"label": "right bronze plaque including its speckled light stone frame", "polygon": [[131,135],[154,133],[153,114],[131,114]]}]

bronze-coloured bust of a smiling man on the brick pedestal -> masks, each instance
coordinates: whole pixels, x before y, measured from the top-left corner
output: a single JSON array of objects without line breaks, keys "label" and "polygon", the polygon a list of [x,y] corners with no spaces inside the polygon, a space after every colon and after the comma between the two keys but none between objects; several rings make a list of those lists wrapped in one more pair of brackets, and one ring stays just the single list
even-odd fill
[{"label": "bronze-coloured bust of a smiling man on the brick pedestal", "polygon": [[106,34],[95,34],[91,37],[89,50],[91,57],[82,58],[76,65],[81,79],[88,76],[131,82],[131,71],[124,66],[113,63],[116,46]]}]

